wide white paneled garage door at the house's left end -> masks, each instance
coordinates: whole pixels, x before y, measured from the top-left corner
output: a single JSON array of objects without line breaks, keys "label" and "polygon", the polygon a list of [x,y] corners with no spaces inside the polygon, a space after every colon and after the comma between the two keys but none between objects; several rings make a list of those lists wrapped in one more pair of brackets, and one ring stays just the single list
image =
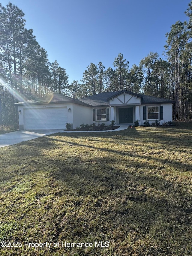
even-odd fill
[{"label": "wide white paneled garage door at the house's left end", "polygon": [[64,129],[67,107],[31,108],[23,110],[24,129]]}]

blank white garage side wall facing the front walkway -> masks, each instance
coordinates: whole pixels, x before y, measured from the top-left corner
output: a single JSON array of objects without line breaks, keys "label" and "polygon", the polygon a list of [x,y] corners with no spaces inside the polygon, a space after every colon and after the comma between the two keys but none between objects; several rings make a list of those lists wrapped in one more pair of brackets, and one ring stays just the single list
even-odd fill
[{"label": "blank white garage side wall facing the front walkway", "polygon": [[69,113],[73,118],[73,129],[80,127],[81,124],[93,123],[93,110],[91,107],[86,107],[73,103],[72,111]]}]

